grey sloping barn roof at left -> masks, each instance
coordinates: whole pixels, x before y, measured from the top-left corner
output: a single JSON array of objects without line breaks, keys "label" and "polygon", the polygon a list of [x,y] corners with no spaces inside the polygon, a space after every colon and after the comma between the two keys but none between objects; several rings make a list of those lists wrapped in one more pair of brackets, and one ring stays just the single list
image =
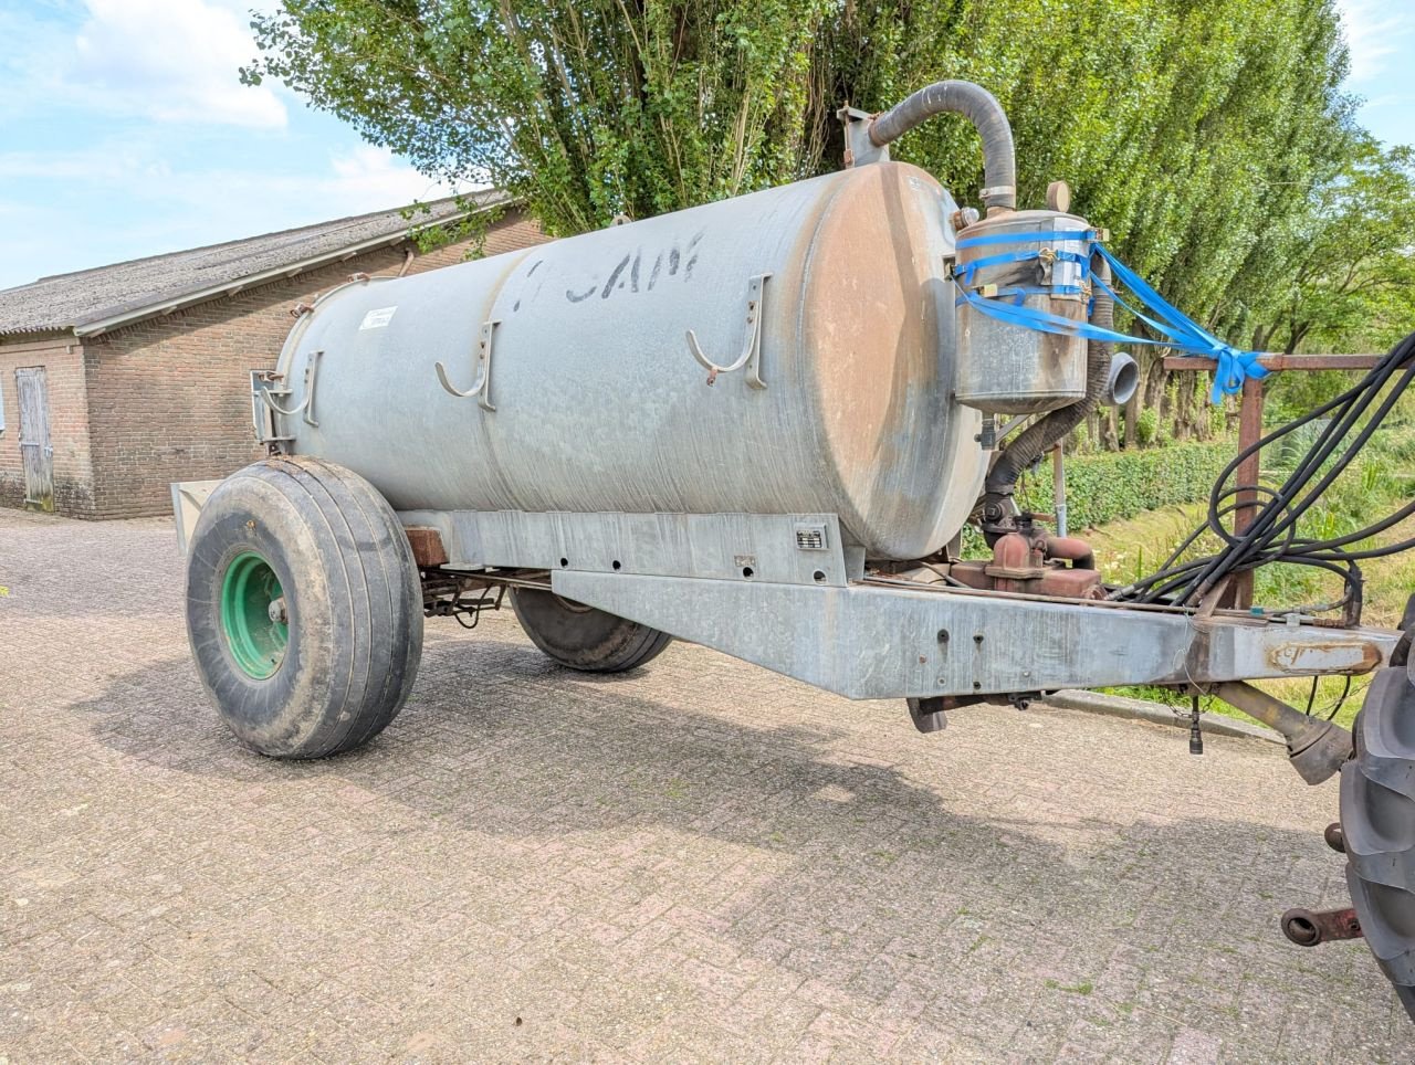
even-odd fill
[{"label": "grey sloping barn roof at left", "polygon": [[[494,206],[507,197],[475,192],[475,208]],[[456,198],[417,208],[338,218],[333,222],[283,229],[277,233],[228,240],[224,245],[170,252],[92,270],[41,277],[31,284],[0,291],[0,335],[74,330],[98,332],[103,322],[130,321],[174,305],[191,305],[221,294],[249,279],[276,276],[291,267],[337,260],[350,249],[398,240],[416,226],[447,221],[463,208]],[[307,266],[306,266],[307,264]]]}]

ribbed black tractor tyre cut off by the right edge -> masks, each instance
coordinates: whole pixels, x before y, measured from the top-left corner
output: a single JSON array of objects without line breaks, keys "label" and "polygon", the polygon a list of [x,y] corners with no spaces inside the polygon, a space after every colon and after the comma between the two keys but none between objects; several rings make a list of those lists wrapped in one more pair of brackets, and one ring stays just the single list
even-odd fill
[{"label": "ribbed black tractor tyre cut off by the right edge", "polygon": [[1354,735],[1341,767],[1346,883],[1367,946],[1415,1020],[1415,683],[1404,663],[1371,680]]}]

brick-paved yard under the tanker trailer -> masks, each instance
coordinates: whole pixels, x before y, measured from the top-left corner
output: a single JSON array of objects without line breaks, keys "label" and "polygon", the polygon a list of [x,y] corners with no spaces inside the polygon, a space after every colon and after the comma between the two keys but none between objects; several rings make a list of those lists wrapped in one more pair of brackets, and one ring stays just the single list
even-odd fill
[{"label": "brick-paved yard under the tanker trailer", "polygon": [[0,512],[0,1062],[1415,1059],[1336,789],[1268,744],[429,627],[403,716],[245,754],[166,522]]}]

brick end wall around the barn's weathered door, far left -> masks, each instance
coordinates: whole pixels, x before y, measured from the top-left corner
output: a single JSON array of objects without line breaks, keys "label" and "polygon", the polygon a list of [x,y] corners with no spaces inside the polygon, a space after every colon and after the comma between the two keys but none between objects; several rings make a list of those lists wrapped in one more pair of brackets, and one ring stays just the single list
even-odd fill
[{"label": "brick end wall around the barn's weathered door, far left", "polygon": [[14,372],[44,366],[50,397],[50,444],[54,447],[54,502],[59,513],[88,515],[93,508],[89,460],[83,345],[74,337],[0,344],[0,506],[24,505],[20,461],[20,395]]}]

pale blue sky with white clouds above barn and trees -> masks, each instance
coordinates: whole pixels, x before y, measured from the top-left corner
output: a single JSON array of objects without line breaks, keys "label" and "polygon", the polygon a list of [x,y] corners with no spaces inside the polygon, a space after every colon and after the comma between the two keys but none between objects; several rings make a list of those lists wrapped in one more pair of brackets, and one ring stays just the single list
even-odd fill
[{"label": "pale blue sky with white clouds above barn and trees", "polygon": [[[0,289],[446,195],[283,86],[275,0],[0,0]],[[1415,144],[1415,0],[1339,0],[1360,120]]]}]

